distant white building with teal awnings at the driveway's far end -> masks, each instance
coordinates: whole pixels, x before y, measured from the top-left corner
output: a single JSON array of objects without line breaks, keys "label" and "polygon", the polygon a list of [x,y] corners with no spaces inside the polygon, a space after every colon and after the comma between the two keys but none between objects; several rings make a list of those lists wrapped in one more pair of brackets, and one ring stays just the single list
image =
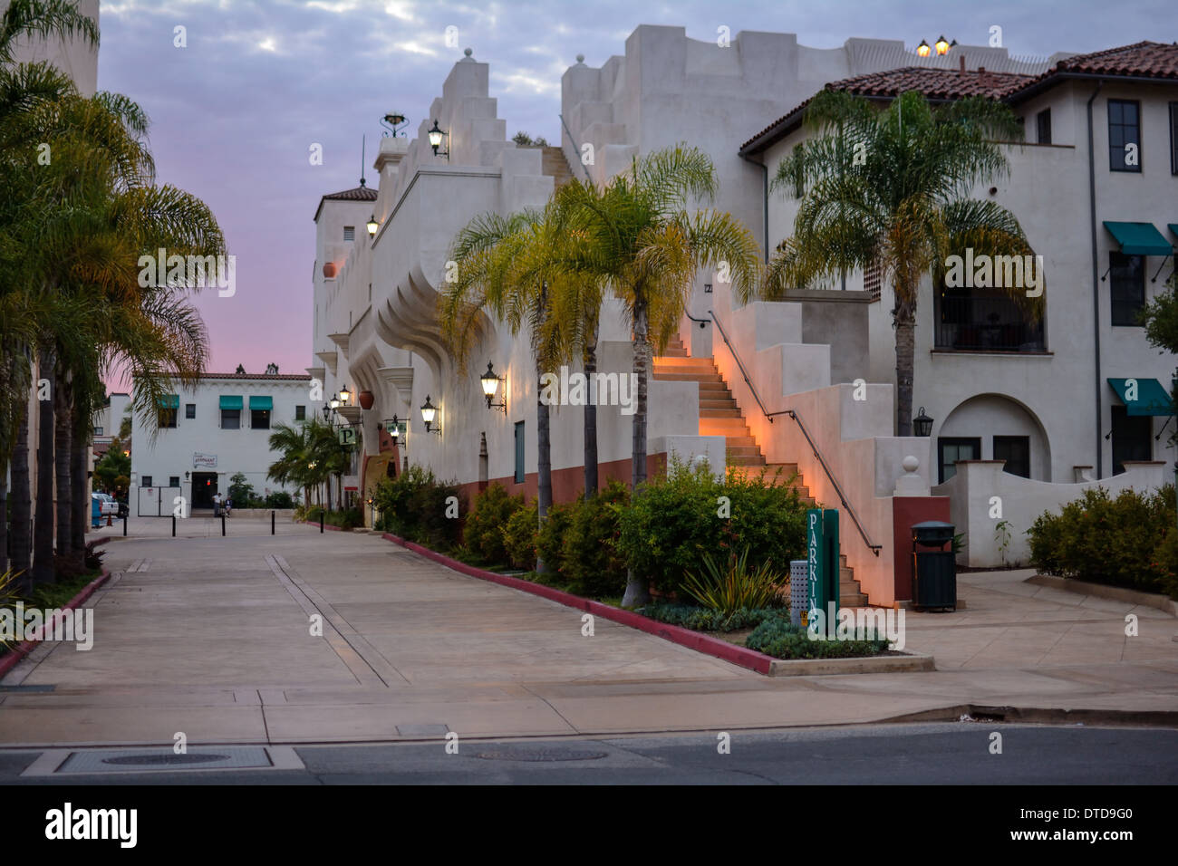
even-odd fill
[{"label": "distant white building with teal awnings at the driveway's far end", "polygon": [[[274,424],[310,417],[311,377],[280,373],[205,373],[192,389],[177,389],[159,410],[153,436],[132,421],[131,515],[171,516],[174,497],[192,510],[212,508],[243,472],[259,496],[284,489],[266,478],[278,455],[270,450]],[[286,488],[296,498],[299,491]]]}]

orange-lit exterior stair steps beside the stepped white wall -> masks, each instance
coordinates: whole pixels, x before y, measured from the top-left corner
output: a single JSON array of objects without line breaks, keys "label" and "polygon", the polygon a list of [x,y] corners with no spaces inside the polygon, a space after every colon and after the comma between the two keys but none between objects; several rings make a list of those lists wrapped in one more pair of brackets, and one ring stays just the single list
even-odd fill
[{"label": "orange-lit exterior stair steps beside the stepped white wall", "polygon": [[[816,507],[809,488],[802,484],[796,463],[766,462],[761,447],[744,423],[744,414],[712,358],[689,357],[682,341],[675,338],[667,345],[666,352],[655,357],[653,377],[662,382],[699,383],[700,436],[723,436],[728,465],[736,467],[740,472],[765,471],[769,483],[793,484],[802,502]],[[839,556],[839,602],[842,607],[867,604],[867,596],[842,554]]]}]

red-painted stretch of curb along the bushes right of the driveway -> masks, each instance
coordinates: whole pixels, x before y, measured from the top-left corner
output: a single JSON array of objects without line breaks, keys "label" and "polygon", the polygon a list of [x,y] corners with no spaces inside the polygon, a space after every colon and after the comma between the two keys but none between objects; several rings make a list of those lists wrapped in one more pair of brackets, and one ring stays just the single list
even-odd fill
[{"label": "red-painted stretch of curb along the bushes right of the driveway", "polygon": [[492,583],[498,583],[499,586],[538,595],[543,599],[555,601],[570,608],[585,610],[594,616],[602,617],[603,620],[610,620],[611,622],[617,622],[622,626],[636,628],[640,632],[646,632],[655,637],[662,637],[664,641],[677,643],[681,647],[694,649],[695,652],[703,653],[704,655],[722,659],[723,661],[732,662],[733,665],[739,665],[742,668],[755,670],[759,674],[768,674],[774,661],[773,656],[766,655],[765,653],[757,653],[748,649],[747,647],[737,647],[735,643],[729,643],[728,641],[713,637],[712,635],[700,634],[699,632],[691,632],[690,629],[682,628],[680,626],[669,626],[666,622],[657,622],[647,616],[642,616],[641,614],[636,614],[633,610],[622,610],[621,608],[610,607],[609,604],[602,604],[600,601],[582,599],[580,595],[573,595],[571,593],[565,593],[562,589],[554,589],[552,587],[532,583],[531,581],[525,581],[519,577],[511,577],[505,574],[496,574],[495,571],[487,571],[482,568],[476,568],[475,566],[468,566],[465,562],[451,560],[449,556],[444,556],[436,550],[430,550],[421,544],[405,541],[401,536],[393,535],[392,533],[383,533],[380,537],[385,541],[391,541],[395,544],[401,544],[403,548],[408,548],[413,553],[421,554],[429,560],[434,560],[435,562],[441,563],[446,568],[451,568],[455,571],[468,575],[469,577],[478,577],[479,580],[491,581]]}]

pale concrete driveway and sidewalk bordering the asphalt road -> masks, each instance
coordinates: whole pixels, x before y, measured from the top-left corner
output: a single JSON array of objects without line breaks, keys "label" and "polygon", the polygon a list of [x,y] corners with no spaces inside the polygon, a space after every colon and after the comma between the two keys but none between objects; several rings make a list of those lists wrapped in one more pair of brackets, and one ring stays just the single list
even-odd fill
[{"label": "pale concrete driveway and sidewalk bordering the asphalt road", "polygon": [[41,646],[0,682],[0,746],[733,731],[966,703],[1178,712],[1172,616],[1014,573],[962,575],[960,613],[907,614],[908,648],[935,672],[781,680],[600,617],[584,636],[578,610],[379,536],[234,524],[223,538],[216,523],[106,546],[93,649]]}]

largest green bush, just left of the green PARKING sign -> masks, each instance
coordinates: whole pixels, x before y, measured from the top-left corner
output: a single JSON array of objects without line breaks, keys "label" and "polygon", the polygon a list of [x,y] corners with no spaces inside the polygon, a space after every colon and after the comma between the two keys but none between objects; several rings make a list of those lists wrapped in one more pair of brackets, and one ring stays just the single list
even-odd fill
[{"label": "largest green bush, just left of the green PARKING sign", "polygon": [[[616,549],[664,593],[677,593],[704,554],[746,546],[752,562],[785,570],[801,556],[808,507],[795,488],[773,481],[763,472],[747,477],[729,470],[720,482],[706,467],[673,463],[622,509]],[[728,497],[729,517],[722,516],[721,496]]]}]

